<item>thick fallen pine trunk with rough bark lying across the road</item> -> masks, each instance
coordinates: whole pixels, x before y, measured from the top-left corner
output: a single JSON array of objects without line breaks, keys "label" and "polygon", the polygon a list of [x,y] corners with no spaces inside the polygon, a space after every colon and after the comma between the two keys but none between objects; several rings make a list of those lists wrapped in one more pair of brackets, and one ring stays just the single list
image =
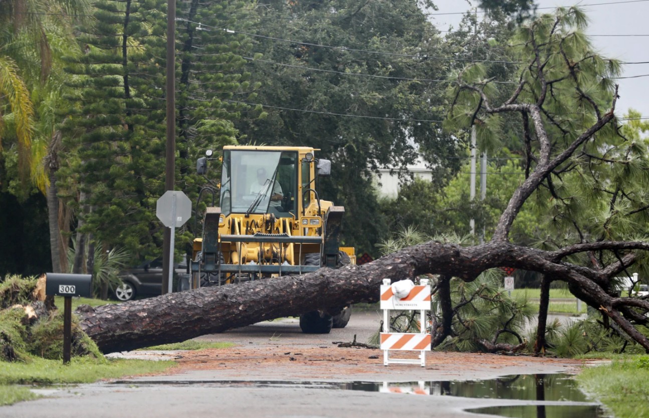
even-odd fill
[{"label": "thick fallen pine trunk with rough bark lying across the road", "polygon": [[[596,245],[649,249],[649,243],[639,242],[602,241]],[[573,247],[567,252],[580,248]],[[508,265],[569,282],[570,288],[580,289],[580,299],[600,308],[631,338],[649,349],[649,340],[619,312],[620,308],[630,306],[649,309],[649,301],[609,295],[597,283],[604,280],[601,273],[597,276],[596,271],[585,267],[557,262],[558,257],[557,252],[500,242],[465,248],[430,242],[360,266],[323,268],[301,276],[202,288],[118,305],[84,306],[77,312],[82,330],[95,340],[99,349],[114,352],[184,341],[311,310],[374,302],[384,278],[396,281],[432,273],[471,281],[486,269]],[[615,275],[614,271],[609,273]]]}]

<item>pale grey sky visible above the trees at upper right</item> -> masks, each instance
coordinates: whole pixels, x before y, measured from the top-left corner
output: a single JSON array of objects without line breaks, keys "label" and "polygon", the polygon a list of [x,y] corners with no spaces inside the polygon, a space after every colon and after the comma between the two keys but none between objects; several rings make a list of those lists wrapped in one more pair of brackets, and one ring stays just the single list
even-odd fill
[{"label": "pale grey sky visible above the trees at upper right", "polygon": [[[594,47],[608,58],[618,58],[624,62],[649,62],[649,1],[622,3],[623,0],[536,0],[538,13],[552,12],[557,6],[580,5],[590,22],[587,34],[591,36]],[[465,12],[471,8],[466,0],[434,0],[439,11],[431,13]],[[473,1],[472,4],[476,4]],[[599,3],[618,3],[596,5]],[[591,6],[588,6],[591,5]],[[543,9],[550,7],[548,9]],[[440,30],[448,30],[449,25],[458,27],[461,15],[436,15],[432,21]],[[646,36],[601,36],[601,35],[646,35]],[[620,77],[649,74],[649,64],[625,64]],[[649,77],[617,80],[620,85],[616,114],[622,117],[629,108],[649,117]]]}]

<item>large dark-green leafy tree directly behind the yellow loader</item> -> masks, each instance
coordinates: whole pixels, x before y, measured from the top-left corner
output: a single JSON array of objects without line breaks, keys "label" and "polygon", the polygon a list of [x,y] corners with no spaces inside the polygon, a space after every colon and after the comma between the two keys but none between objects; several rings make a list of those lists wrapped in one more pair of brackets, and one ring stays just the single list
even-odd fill
[{"label": "large dark-green leafy tree directly behind the yellow loader", "polygon": [[[425,154],[435,173],[458,167],[441,130],[443,91],[459,42],[445,42],[416,1],[271,1],[256,9],[251,58],[268,117],[240,124],[251,142],[310,145],[334,163],[324,197],[347,208],[347,244],[371,251],[384,225],[378,167]],[[459,36],[456,37],[459,39]]]}]

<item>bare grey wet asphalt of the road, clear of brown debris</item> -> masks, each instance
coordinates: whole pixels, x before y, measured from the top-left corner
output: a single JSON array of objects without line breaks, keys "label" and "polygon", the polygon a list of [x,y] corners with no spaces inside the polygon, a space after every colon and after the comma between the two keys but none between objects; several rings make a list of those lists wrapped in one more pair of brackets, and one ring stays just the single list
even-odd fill
[{"label": "bare grey wet asphalt of the road, clear of brown debris", "polygon": [[[299,347],[331,345],[332,341],[351,341],[356,334],[365,342],[380,323],[378,312],[354,312],[347,328],[333,330],[328,336],[302,334],[297,319],[259,323],[201,339],[233,341],[242,346],[264,344]],[[375,360],[376,361],[376,360]],[[415,365],[380,367],[374,382],[408,382],[436,380],[435,371]],[[562,371],[560,367],[547,373]],[[287,372],[290,373],[290,372]],[[511,370],[509,373],[540,373],[538,370]],[[335,375],[335,371],[332,370]],[[340,381],[354,376],[339,376]],[[459,376],[458,378],[465,378]],[[492,377],[492,376],[474,376]],[[247,376],[245,380],[301,380],[284,375]],[[367,376],[365,376],[367,378]],[[415,396],[395,393],[323,389],[317,385],[223,383],[230,376],[218,371],[190,371],[182,375],[132,378],[119,383],[101,382],[51,389],[47,397],[0,407],[0,417],[64,418],[64,417],[476,417],[465,408],[503,404],[530,404],[530,401],[469,399],[451,396]],[[241,379],[239,379],[241,380]],[[334,379],[336,380],[336,379]],[[533,404],[534,402],[532,402]],[[550,402],[552,403],[552,402]],[[487,416],[487,415],[482,415]]]}]

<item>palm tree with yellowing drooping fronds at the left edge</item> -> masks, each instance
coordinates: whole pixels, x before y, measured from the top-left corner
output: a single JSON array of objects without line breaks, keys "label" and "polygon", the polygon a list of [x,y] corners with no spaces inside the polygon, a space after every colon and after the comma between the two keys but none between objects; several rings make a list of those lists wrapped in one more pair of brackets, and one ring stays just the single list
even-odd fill
[{"label": "palm tree with yellowing drooping fronds at the left edge", "polygon": [[60,120],[53,108],[60,99],[64,74],[56,64],[63,53],[79,50],[72,27],[89,10],[87,0],[0,2],[0,154],[3,140],[5,144],[14,140],[16,147],[5,149],[18,154],[20,180],[26,182],[31,175],[47,196],[57,272],[65,269],[66,257],[60,249],[58,222],[53,222],[59,213],[54,174],[60,144],[56,131]]}]

